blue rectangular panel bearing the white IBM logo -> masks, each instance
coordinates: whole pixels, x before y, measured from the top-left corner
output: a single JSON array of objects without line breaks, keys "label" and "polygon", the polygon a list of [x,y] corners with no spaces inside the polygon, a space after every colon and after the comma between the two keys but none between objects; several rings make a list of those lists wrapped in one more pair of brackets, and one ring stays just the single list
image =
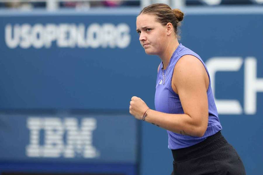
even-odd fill
[{"label": "blue rectangular panel bearing the white IBM logo", "polygon": [[129,115],[1,114],[0,121],[2,162],[136,164],[138,129]]}]

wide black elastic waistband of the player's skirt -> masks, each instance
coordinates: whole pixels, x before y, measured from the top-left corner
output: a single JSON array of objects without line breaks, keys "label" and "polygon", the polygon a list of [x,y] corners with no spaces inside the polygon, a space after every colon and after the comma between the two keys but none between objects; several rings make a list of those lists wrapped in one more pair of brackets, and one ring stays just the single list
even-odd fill
[{"label": "wide black elastic waistband of the player's skirt", "polygon": [[209,153],[214,149],[220,148],[226,143],[226,139],[219,131],[212,136],[208,136],[204,141],[201,141],[196,145],[187,148],[172,150],[172,154],[175,162],[181,162],[184,160],[191,159],[193,157]]}]

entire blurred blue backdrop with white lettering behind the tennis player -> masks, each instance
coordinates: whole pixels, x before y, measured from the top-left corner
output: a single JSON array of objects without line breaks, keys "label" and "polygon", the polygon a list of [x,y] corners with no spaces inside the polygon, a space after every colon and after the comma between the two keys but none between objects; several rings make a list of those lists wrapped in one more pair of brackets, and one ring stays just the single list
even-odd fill
[{"label": "entire blurred blue backdrop with white lettering behind the tennis player", "polygon": [[129,114],[132,96],[155,108],[160,59],[136,33],[152,3],[185,13],[222,134],[263,173],[263,0],[0,0],[0,174],[172,172],[166,130]]}]

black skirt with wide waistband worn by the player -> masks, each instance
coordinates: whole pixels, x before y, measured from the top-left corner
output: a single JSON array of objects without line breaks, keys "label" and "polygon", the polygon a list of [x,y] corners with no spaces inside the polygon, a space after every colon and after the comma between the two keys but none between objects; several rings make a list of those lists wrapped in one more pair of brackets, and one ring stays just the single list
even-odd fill
[{"label": "black skirt with wide waistband worn by the player", "polygon": [[245,168],[238,153],[221,132],[204,141],[177,150],[171,175],[245,175]]}]

